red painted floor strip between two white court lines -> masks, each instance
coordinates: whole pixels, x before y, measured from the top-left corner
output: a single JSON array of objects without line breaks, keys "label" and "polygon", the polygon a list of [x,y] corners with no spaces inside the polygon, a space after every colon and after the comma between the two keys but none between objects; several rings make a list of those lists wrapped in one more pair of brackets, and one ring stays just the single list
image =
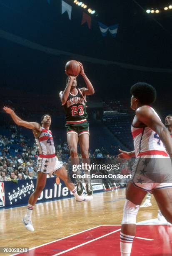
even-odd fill
[{"label": "red painted floor strip between two white court lines", "polygon": [[[100,236],[106,235],[107,233],[110,233],[112,231],[115,231],[119,229],[120,226],[99,226],[90,230],[85,230],[82,233],[74,234],[73,236],[62,238],[60,240],[57,240],[52,243],[48,243],[46,245],[42,245],[37,248],[30,249],[29,256],[36,256],[36,255],[54,255],[57,253],[60,253],[62,251],[65,251],[67,249],[70,249],[74,246],[78,246],[82,243],[85,243],[87,241],[91,241],[95,238],[98,238]],[[26,256],[26,254],[21,253],[20,256]]]}]

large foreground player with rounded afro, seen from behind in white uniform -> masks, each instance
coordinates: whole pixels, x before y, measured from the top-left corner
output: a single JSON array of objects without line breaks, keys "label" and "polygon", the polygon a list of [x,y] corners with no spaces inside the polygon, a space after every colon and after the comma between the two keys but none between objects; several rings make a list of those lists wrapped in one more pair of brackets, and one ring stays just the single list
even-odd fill
[{"label": "large foreground player with rounded afro, seen from behind in white uniform", "polygon": [[[121,256],[130,256],[136,232],[136,216],[147,192],[152,192],[166,220],[172,223],[172,141],[170,133],[149,105],[156,99],[150,84],[137,83],[131,89],[135,111],[132,136],[135,150],[121,151],[118,158],[136,157],[132,181],[128,182],[120,232]],[[166,151],[167,150],[167,151]],[[167,154],[168,152],[168,154]]]}]

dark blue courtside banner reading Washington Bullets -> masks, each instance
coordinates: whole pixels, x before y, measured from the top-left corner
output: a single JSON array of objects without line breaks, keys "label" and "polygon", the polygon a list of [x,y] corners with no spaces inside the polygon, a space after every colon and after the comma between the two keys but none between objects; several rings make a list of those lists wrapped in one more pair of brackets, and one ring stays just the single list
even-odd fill
[{"label": "dark blue courtside banner reading Washington Bullets", "polygon": [[[73,197],[72,192],[60,180],[56,184],[56,178],[48,178],[45,188],[40,194],[37,202],[47,202],[62,198]],[[37,179],[19,180],[17,183],[12,181],[0,182],[0,207],[14,207],[17,205],[26,205],[30,195],[34,192]],[[103,191],[102,184],[93,185],[93,191]]]}]

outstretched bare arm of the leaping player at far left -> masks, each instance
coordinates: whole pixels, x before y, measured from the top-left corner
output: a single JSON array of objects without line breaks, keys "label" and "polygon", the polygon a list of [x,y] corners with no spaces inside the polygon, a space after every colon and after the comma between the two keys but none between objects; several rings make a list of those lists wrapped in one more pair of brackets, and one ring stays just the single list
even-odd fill
[{"label": "outstretched bare arm of the leaping player at far left", "polygon": [[10,114],[11,118],[17,125],[24,126],[26,128],[32,129],[32,130],[37,130],[41,131],[41,126],[39,123],[35,122],[26,122],[22,120],[20,117],[18,117],[15,112],[11,108],[3,107],[3,110],[7,113]]}]

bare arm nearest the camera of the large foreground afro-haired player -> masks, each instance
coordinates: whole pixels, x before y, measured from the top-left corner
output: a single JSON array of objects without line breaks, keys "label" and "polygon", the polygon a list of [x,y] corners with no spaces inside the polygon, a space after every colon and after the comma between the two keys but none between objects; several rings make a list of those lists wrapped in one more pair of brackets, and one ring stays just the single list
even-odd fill
[{"label": "bare arm nearest the camera of the large foreground afro-haired player", "polygon": [[162,143],[165,144],[168,154],[172,158],[172,138],[168,129],[161,122],[160,118],[155,115],[154,111],[147,106],[137,108],[136,116],[141,123],[150,127],[160,136]]}]

